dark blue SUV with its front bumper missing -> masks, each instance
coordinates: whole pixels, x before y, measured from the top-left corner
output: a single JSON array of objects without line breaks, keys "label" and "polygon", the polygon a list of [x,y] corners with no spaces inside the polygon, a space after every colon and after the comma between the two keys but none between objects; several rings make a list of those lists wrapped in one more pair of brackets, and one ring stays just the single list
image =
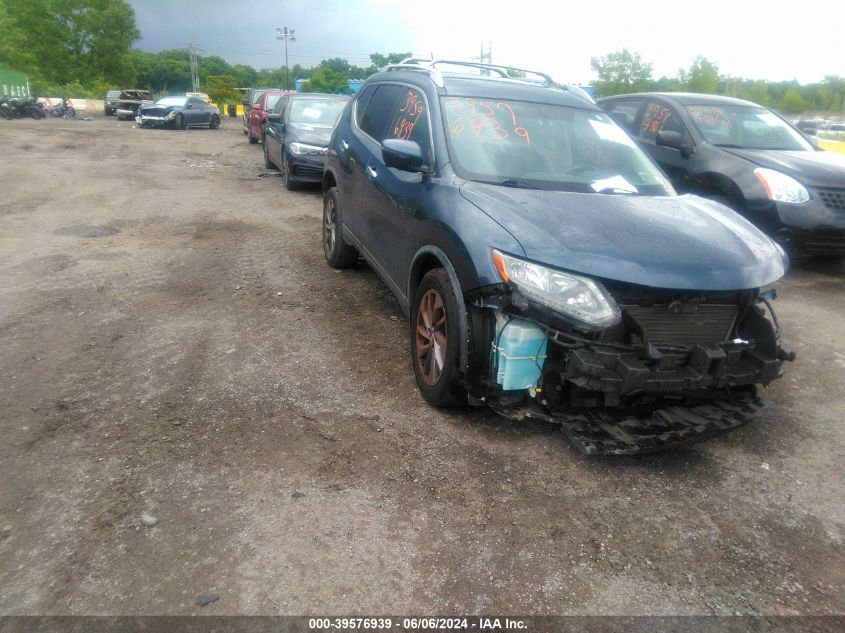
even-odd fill
[{"label": "dark blue SUV with its front bumper missing", "polygon": [[434,406],[559,422],[585,452],[745,424],[793,358],[766,288],[783,249],[678,196],[582,91],[525,72],[406,60],[368,78],[326,157],[328,264],[364,257],[394,293]]}]

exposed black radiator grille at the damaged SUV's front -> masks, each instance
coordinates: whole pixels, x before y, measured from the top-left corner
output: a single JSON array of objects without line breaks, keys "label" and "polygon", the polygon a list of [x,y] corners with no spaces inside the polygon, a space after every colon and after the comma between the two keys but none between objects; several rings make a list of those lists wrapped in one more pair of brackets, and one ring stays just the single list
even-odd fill
[{"label": "exposed black radiator grille at the damaged SUV's front", "polygon": [[690,347],[714,345],[731,335],[737,315],[735,305],[670,305],[623,307],[639,327],[646,343]]}]

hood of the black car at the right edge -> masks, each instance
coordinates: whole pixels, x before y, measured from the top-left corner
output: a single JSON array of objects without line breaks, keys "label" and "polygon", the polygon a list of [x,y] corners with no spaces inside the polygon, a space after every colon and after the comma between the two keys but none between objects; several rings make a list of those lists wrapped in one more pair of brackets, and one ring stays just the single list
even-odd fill
[{"label": "hood of the black car at the right edge", "polygon": [[845,188],[845,156],[835,152],[720,149],[760,167],[782,171],[810,187]]}]

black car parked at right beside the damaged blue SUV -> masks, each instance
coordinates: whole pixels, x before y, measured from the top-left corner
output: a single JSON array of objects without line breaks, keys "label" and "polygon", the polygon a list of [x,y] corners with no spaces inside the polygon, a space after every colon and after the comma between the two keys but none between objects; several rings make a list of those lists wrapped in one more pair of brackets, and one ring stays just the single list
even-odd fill
[{"label": "black car parked at right beside the damaged blue SUV", "polygon": [[792,252],[845,256],[845,156],[816,148],[778,114],[749,101],[685,93],[599,104],[678,191],[718,200]]}]

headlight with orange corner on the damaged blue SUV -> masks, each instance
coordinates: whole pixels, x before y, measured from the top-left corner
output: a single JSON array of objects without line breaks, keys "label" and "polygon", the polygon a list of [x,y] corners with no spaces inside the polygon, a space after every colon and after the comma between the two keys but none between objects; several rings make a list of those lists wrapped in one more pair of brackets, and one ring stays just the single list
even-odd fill
[{"label": "headlight with orange corner on the damaged blue SUV", "polygon": [[493,251],[493,263],[502,279],[526,297],[595,328],[606,328],[622,318],[619,306],[600,282],[564,273]]}]

